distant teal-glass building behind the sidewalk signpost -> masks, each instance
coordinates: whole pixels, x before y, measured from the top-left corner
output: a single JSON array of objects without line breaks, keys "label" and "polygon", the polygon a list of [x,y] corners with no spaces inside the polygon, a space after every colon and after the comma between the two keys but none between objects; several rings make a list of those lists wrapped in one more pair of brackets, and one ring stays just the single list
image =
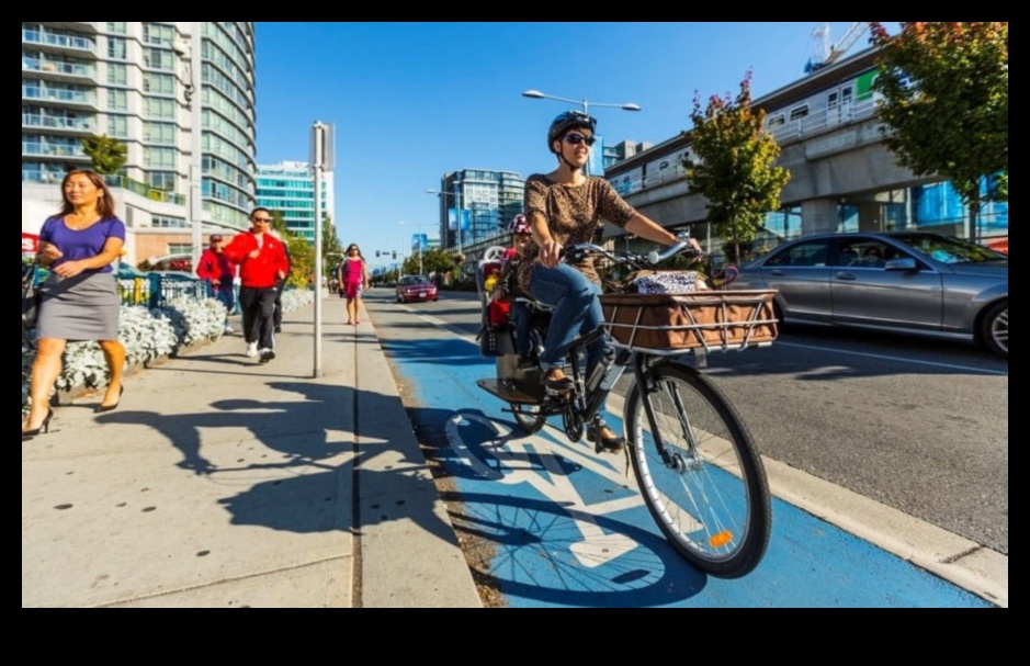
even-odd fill
[{"label": "distant teal-glass building behind the sidewalk signpost", "polygon": [[287,229],[314,244],[316,210],[320,210],[322,216],[333,210],[332,172],[324,172],[321,180],[321,206],[316,206],[315,174],[310,165],[292,161],[258,165],[258,205],[281,213]]}]

